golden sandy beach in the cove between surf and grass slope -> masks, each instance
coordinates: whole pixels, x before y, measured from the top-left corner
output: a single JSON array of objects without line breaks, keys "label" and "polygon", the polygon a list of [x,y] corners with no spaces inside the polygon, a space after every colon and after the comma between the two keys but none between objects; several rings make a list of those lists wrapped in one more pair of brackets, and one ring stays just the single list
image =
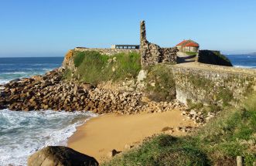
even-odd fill
[{"label": "golden sandy beach in the cove between surf and grass slope", "polygon": [[139,113],[134,115],[105,114],[88,120],[70,137],[68,147],[90,155],[102,162],[109,151],[124,151],[126,144],[138,144],[145,137],[162,133],[163,127],[173,127],[174,136],[186,135],[175,127],[194,126],[192,120],[184,120],[180,110],[165,113]]}]

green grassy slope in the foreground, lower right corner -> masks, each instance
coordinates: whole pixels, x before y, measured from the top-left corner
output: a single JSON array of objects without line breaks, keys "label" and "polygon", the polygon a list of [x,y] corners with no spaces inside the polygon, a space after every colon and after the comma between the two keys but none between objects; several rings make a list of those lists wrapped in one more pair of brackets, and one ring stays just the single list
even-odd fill
[{"label": "green grassy slope in the foreground, lower right corner", "polygon": [[104,165],[245,165],[256,161],[256,95],[239,108],[226,107],[192,136],[160,135]]}]

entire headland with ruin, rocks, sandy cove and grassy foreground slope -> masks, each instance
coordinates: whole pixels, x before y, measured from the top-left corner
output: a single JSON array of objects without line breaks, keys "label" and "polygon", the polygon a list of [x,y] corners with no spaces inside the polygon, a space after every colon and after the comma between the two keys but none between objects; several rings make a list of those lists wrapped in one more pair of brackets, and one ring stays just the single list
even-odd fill
[{"label": "entire headland with ruin, rocks, sandy cove and grassy foreground slope", "polygon": [[253,125],[243,133],[253,116],[243,113],[254,107],[243,102],[255,98],[255,69],[234,68],[220,52],[200,50],[192,40],[162,48],[146,39],[145,22],[139,49],[129,46],[71,49],[59,69],[6,83],[0,109],[103,114],[79,127],[69,147],[101,162],[118,154],[107,165],[234,164],[241,154],[253,163]]}]

